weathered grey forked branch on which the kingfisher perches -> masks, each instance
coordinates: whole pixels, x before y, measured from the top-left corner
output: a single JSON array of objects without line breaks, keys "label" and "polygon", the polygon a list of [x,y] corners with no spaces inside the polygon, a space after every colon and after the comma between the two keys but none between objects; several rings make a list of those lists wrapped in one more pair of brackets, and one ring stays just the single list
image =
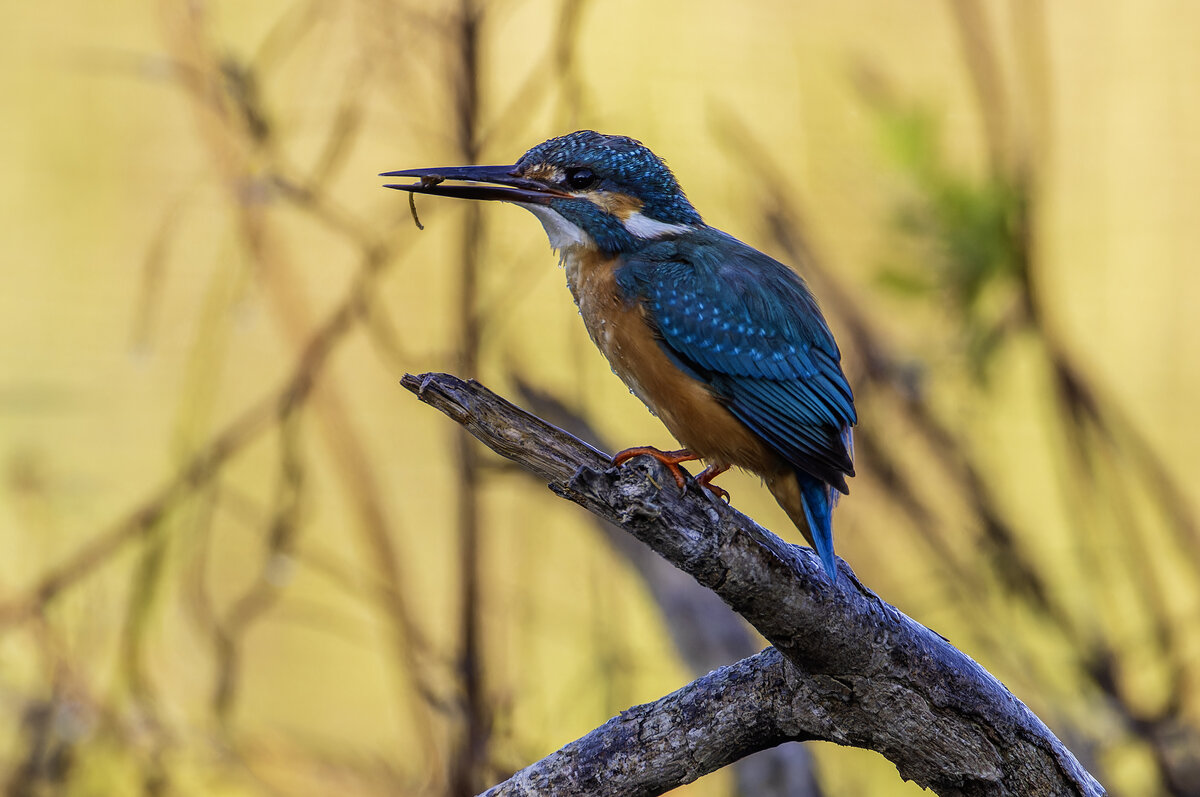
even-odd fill
[{"label": "weathered grey forked branch on which the kingfisher perches", "polygon": [[[556,493],[649,545],[720,595],[778,648],[792,667],[787,688],[772,701],[738,703],[742,714],[766,715],[754,721],[743,715],[740,721],[758,729],[760,738],[755,745],[739,744],[734,757],[784,738],[818,738],[876,750],[896,765],[901,777],[941,795],[1104,793],[1000,682],[944,639],[880,600],[845,563],[838,583],[832,585],[811,551],[784,543],[722,502],[709,499],[692,481],[680,495],[665,468],[649,457],[613,468],[600,451],[475,382],[428,373],[408,374],[402,384],[488,448],[546,479]],[[720,712],[725,697],[709,679],[742,677],[734,673],[743,666],[766,677],[767,655],[745,659],[658,703],[634,709],[655,718],[638,723],[650,721],[647,727],[652,727],[661,720],[670,726],[672,714],[655,707],[684,705],[679,701]],[[660,706],[664,701],[673,702]],[[780,719],[779,706],[794,712],[787,723]],[[805,713],[804,721],[796,719]],[[702,755],[706,731],[714,724],[703,711],[683,712],[679,721],[690,729],[679,744],[664,750],[672,763],[661,757],[646,760],[646,767],[634,767],[629,774],[623,762],[637,759],[646,745],[644,733],[623,732],[622,719],[629,714],[517,773],[492,793],[528,793],[521,784],[535,769],[542,773],[540,778],[562,778],[554,781],[564,784],[557,793],[661,793],[685,783],[680,778],[696,778],[732,760],[726,757],[731,753]],[[772,727],[790,731],[780,736],[762,730]],[[600,736],[593,739],[595,735]],[[584,748],[593,756],[588,760],[604,772],[602,791],[589,783],[584,791],[572,792],[566,784],[574,777],[570,771],[580,766],[577,745],[588,739],[602,743]],[[642,785],[648,777],[655,781]]]}]

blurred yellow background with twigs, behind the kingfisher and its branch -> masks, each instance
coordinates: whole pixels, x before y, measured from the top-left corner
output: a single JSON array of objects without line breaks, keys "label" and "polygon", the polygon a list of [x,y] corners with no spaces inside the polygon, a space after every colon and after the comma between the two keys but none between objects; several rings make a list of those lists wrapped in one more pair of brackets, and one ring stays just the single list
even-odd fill
[{"label": "blurred yellow background with twigs, behind the kingfisher and its branch", "polygon": [[[862,580],[1112,793],[1200,793],[1200,6],[68,0],[0,31],[6,793],[466,793],[698,675],[582,510],[398,385],[672,447],[533,218],[424,199],[419,232],[376,178],[582,127],[810,277]],[[919,792],[809,747],[809,793]]]}]

